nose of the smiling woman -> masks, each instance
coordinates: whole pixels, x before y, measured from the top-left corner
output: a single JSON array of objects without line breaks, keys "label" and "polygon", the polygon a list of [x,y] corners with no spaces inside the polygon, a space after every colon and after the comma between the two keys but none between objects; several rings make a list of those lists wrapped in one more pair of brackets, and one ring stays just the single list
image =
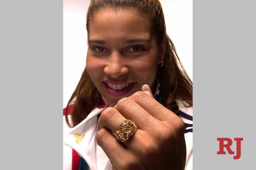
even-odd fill
[{"label": "nose of the smiling woman", "polygon": [[129,73],[129,68],[126,66],[124,58],[118,52],[112,52],[109,56],[106,66],[104,67],[104,73],[110,75],[113,78],[117,78],[120,75]]}]

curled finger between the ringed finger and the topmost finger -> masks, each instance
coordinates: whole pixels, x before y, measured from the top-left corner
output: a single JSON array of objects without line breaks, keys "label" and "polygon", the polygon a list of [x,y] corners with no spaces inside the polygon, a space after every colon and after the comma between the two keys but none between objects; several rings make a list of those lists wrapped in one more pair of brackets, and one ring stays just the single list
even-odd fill
[{"label": "curled finger between the ringed finger and the topmost finger", "polygon": [[[144,94],[147,95],[146,93]],[[138,129],[148,131],[150,130],[150,127],[152,127],[150,126],[150,123],[153,123],[153,121],[156,120],[156,118],[154,118],[145,109],[128,97],[119,100],[114,108],[117,109],[119,113],[126,119],[133,121],[137,125]],[[157,120],[157,122],[159,123],[159,120]]]}]

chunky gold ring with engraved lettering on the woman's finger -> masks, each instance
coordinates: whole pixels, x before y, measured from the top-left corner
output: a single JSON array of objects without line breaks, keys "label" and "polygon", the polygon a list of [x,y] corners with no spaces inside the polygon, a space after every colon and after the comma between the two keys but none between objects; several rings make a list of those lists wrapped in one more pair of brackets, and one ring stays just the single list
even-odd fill
[{"label": "chunky gold ring with engraved lettering on the woman's finger", "polygon": [[129,119],[126,119],[117,128],[117,131],[115,131],[115,137],[120,142],[125,142],[135,133],[136,130],[137,126],[135,125],[135,123]]}]

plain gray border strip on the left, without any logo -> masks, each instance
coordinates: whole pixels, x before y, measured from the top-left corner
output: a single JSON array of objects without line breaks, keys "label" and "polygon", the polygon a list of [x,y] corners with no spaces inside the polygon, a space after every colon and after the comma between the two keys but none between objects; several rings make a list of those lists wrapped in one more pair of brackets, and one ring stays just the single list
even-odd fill
[{"label": "plain gray border strip on the left, without any logo", "polygon": [[63,1],[0,8],[0,169],[62,169]]}]

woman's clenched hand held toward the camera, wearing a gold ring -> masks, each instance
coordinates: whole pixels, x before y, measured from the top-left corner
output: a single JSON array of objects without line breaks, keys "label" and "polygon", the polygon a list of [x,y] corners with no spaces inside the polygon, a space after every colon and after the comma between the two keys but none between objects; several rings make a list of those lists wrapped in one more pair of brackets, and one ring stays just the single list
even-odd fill
[{"label": "woman's clenched hand held toward the camera, wearing a gold ring", "polygon": [[[113,169],[184,170],[184,122],[147,93],[138,91],[120,99],[114,108],[106,108],[98,120],[97,143]],[[113,133],[126,119],[133,121],[137,130],[122,143]]]}]

